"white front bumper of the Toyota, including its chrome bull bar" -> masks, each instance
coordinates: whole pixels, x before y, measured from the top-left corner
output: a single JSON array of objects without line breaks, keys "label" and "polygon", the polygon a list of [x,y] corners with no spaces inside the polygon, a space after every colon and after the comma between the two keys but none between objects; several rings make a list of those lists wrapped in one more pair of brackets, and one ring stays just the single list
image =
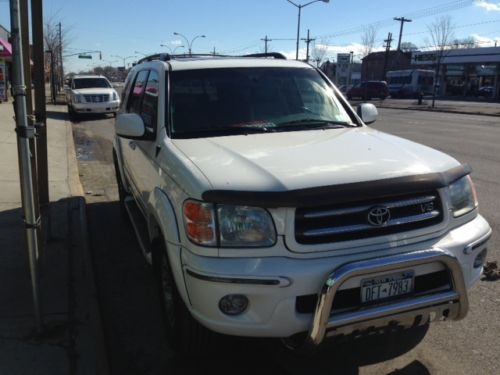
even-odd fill
[{"label": "white front bumper of the Toyota, including its chrome bull bar", "polygon": [[[190,311],[216,332],[254,337],[289,337],[309,332],[318,345],[330,335],[349,334],[389,324],[411,326],[429,318],[460,319],[468,309],[467,289],[482,267],[475,258],[487,246],[491,228],[478,215],[438,240],[387,248],[377,253],[322,258],[210,258],[182,251]],[[359,287],[366,275],[414,269],[417,274],[447,269],[452,288],[429,295],[330,315],[338,290]],[[228,294],[244,294],[248,309],[238,316],[224,315],[218,303]],[[317,295],[316,310],[299,312],[297,298]]]}]

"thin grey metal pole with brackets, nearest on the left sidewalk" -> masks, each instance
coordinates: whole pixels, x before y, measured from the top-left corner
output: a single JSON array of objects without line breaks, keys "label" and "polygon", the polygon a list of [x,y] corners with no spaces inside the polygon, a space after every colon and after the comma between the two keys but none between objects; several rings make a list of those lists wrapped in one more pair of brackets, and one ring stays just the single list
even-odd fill
[{"label": "thin grey metal pole with brackets, nearest on the left sidewalk", "polygon": [[16,133],[20,147],[19,173],[23,196],[23,213],[28,243],[29,265],[31,273],[31,287],[33,292],[33,307],[35,322],[38,331],[43,328],[40,312],[40,292],[38,284],[38,236],[37,228],[40,217],[35,213],[35,195],[33,191],[33,171],[30,161],[29,140],[33,138],[33,128],[28,126],[26,109],[26,86],[23,71],[23,51],[21,49],[21,18],[19,0],[10,0],[10,24],[12,39],[12,92],[14,95],[14,109],[16,114]]}]

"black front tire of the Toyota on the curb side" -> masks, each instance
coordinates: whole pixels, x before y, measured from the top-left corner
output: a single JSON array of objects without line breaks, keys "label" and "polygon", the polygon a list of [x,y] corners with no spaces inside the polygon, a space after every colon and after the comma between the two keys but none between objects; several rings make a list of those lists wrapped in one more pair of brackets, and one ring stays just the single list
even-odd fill
[{"label": "black front tire of the Toyota on the curb side", "polygon": [[170,347],[180,354],[207,354],[212,347],[214,333],[198,323],[184,304],[162,238],[153,243],[153,265]]}]

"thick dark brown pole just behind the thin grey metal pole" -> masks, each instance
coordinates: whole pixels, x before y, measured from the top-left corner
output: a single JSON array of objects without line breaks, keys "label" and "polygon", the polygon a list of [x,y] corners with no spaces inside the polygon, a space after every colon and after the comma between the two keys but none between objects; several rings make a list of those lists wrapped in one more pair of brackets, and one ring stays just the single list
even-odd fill
[{"label": "thick dark brown pole just behind the thin grey metal pole", "polygon": [[37,126],[37,171],[40,204],[49,204],[47,158],[47,111],[45,107],[45,55],[43,49],[42,0],[31,0],[33,30],[33,81],[35,83],[35,121]]}]

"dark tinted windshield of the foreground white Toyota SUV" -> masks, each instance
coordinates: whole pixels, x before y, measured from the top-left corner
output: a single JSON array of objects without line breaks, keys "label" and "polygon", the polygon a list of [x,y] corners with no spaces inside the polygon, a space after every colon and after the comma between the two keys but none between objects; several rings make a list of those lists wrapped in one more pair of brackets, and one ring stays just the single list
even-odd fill
[{"label": "dark tinted windshield of the foreground white Toyota SUV", "polygon": [[174,71],[170,111],[176,138],[355,125],[309,68]]}]

